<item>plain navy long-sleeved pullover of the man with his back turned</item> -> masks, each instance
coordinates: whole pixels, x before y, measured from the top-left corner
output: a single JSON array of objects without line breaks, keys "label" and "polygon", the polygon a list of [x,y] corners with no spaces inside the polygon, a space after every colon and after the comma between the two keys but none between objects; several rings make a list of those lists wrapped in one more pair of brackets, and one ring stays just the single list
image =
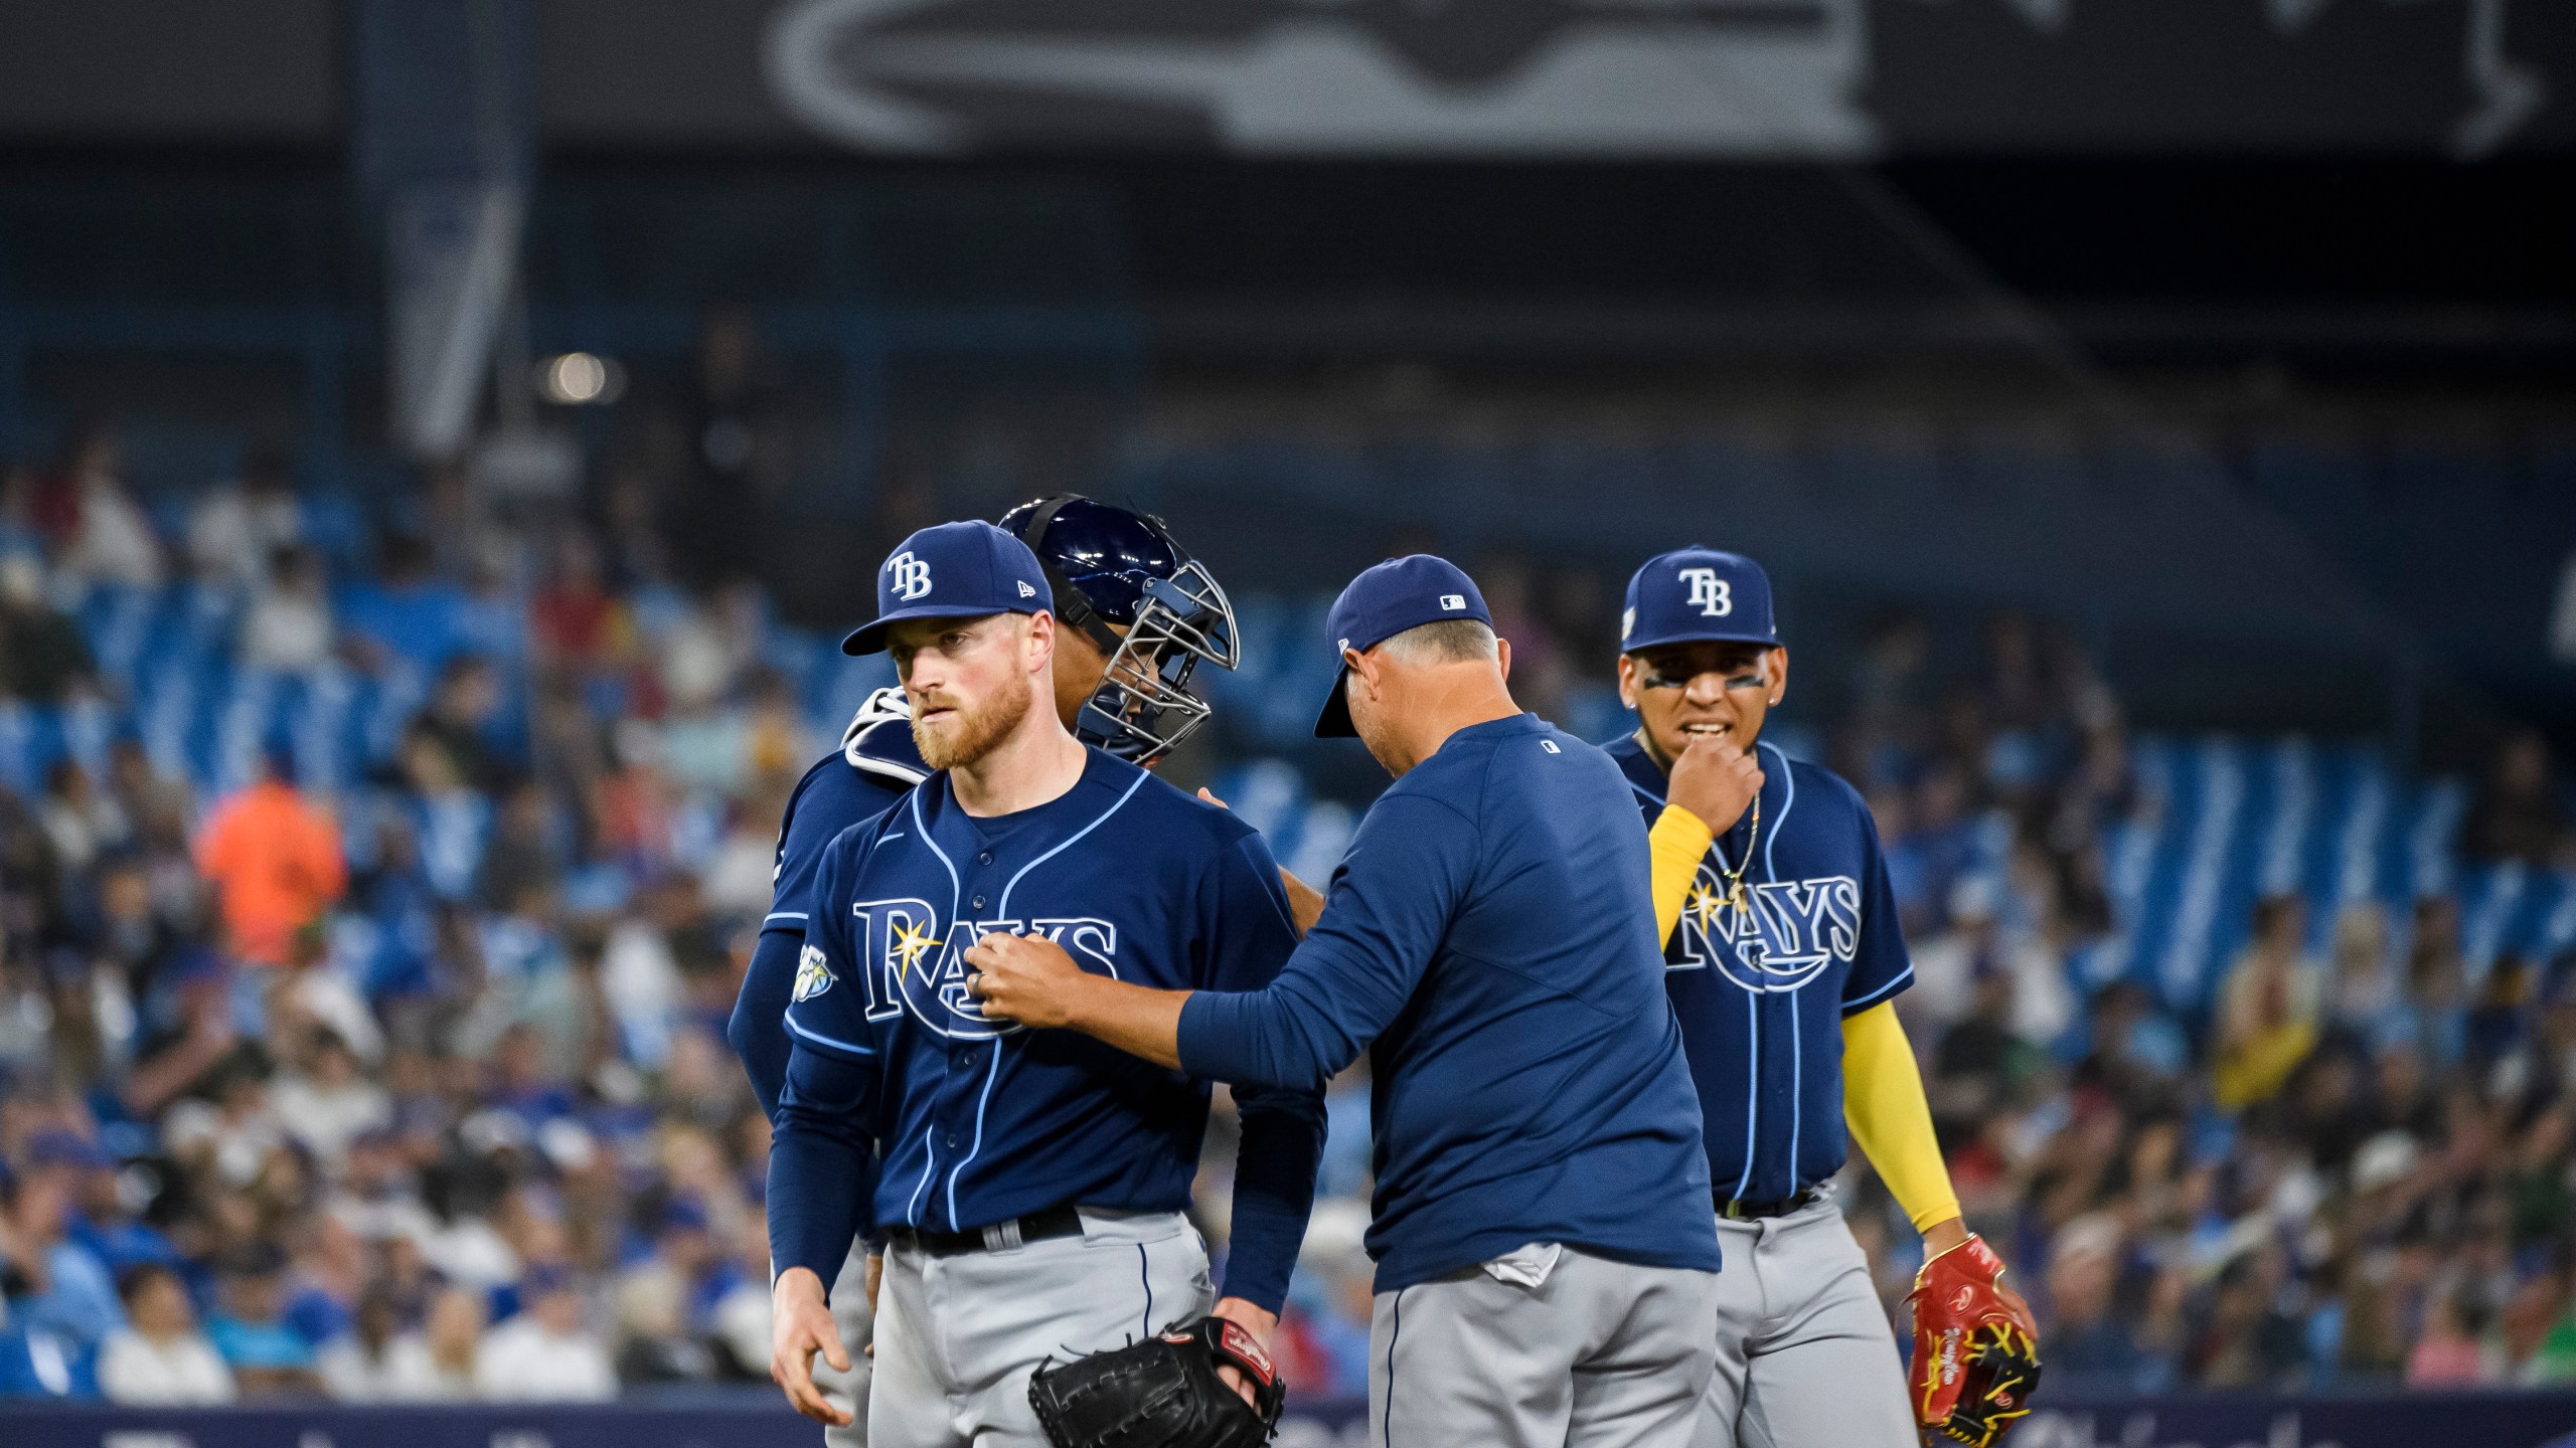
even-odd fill
[{"label": "plain navy long-sleeved pullover of the man with his back turned", "polygon": [[1278,984],[1193,995],[1180,1059],[1316,1087],[1365,1049],[1378,1291],[1564,1242],[1718,1270],[1646,835],[1600,750],[1473,724],[1368,809]]}]

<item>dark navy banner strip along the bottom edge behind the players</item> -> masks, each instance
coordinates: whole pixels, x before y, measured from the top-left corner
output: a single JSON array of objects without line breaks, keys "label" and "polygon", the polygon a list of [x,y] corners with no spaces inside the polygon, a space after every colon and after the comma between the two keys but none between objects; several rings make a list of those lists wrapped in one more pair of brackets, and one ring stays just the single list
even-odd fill
[{"label": "dark navy banner strip along the bottom edge behind the players", "polygon": [[[822,1433],[778,1407],[670,1399],[618,1407],[198,1409],[121,1412],[0,1402],[10,1448],[814,1448]],[[2061,1399],[2012,1448],[2540,1448],[2576,1433],[2576,1391]],[[1293,1404],[1278,1448],[1363,1448],[1358,1402]]]}]

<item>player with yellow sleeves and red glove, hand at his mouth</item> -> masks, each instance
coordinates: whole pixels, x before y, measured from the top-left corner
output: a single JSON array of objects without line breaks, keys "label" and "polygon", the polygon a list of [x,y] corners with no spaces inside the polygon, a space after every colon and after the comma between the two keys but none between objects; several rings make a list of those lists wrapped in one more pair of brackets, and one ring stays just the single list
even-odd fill
[{"label": "player with yellow sleeves and red glove, hand at his mouth", "polygon": [[[1891,1005],[1914,964],[1870,812],[1834,773],[1759,742],[1788,691],[1770,577],[1713,549],[1649,559],[1628,580],[1618,688],[1641,724],[1607,752],[1651,824],[1664,982],[1726,1244],[1698,1445],[1899,1448],[1917,1420],[1991,1440],[2027,1412],[2030,1314],[1960,1224],[1932,1136]],[[1832,1201],[1847,1131],[1924,1234],[1927,1273],[1971,1293],[1927,1306],[1917,1286],[1911,1404],[1868,1260]],[[1989,1322],[2022,1335],[2027,1373],[1973,1381],[1976,1402],[1955,1404]],[[1960,1332],[1942,1337],[1945,1324]],[[1953,1407],[1978,1422],[1953,1425]]]}]

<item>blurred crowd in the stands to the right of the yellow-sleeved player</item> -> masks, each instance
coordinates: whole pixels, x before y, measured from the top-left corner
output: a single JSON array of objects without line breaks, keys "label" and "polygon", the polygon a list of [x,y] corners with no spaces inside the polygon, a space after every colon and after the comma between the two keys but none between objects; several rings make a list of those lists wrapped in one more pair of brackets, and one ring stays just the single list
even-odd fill
[{"label": "blurred crowd in the stands to the right of the yellow-sleeved player", "polygon": [[[2576,1381],[2576,958],[2473,961],[2455,886],[2331,912],[2262,894],[2213,989],[2084,984],[2071,964],[2123,925],[2107,840],[2172,801],[2063,634],[1996,618],[1963,672],[1929,644],[1878,631],[1832,757],[1888,840],[1917,958],[1899,1013],[2050,1384]],[[2458,827],[2468,866],[2563,873],[2571,845],[2545,742],[2506,739]],[[1901,1322],[1919,1242],[1850,1177]]]}]

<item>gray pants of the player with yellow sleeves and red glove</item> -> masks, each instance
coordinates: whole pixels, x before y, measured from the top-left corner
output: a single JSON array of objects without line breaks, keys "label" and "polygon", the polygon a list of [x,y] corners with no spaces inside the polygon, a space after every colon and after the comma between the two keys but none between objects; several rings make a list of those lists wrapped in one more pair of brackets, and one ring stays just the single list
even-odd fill
[{"label": "gray pants of the player with yellow sleeves and red glove", "polygon": [[1870,1260],[1834,1198],[1718,1219],[1718,1371],[1692,1448],[1914,1448]]}]

